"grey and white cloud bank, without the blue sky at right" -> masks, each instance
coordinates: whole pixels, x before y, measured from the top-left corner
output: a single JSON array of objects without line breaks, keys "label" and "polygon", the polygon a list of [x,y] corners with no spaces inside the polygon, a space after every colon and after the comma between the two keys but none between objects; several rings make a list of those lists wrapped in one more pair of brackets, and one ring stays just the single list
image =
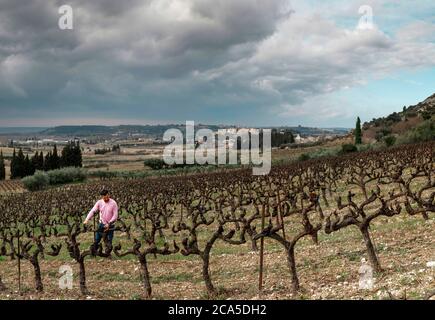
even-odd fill
[{"label": "grey and white cloud bank, without the blue sky at right", "polygon": [[[58,28],[63,4],[74,30]],[[0,0],[0,125],[276,122],[368,71],[433,63],[434,46],[406,36],[417,29],[344,30],[287,0]]]}]

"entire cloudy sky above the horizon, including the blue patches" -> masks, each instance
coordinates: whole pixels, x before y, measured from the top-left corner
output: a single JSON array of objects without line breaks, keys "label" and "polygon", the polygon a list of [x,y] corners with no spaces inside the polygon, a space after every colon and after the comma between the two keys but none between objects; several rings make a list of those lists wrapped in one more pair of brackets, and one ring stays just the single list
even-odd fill
[{"label": "entire cloudy sky above the horizon, including the blue patches", "polygon": [[0,0],[0,126],[352,127],[433,93],[433,0]]}]

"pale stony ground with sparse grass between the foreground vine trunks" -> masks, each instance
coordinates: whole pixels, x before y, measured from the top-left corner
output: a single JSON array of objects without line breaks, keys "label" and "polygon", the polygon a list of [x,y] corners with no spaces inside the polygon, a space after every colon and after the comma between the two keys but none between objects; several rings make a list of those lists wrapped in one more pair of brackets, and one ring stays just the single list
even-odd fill
[{"label": "pale stony ground with sparse grass between the foreground vine trunks", "polygon": [[[435,289],[435,216],[424,221],[420,216],[401,215],[379,219],[372,235],[385,271],[375,275],[372,290],[359,290],[358,269],[365,257],[364,243],[355,228],[332,235],[321,235],[319,245],[303,239],[296,258],[302,290],[290,293],[289,272],[282,248],[266,240],[264,291],[258,293],[258,253],[250,245],[219,243],[212,252],[211,275],[220,290],[215,299],[424,299]],[[121,236],[120,236],[121,237]],[[154,299],[207,299],[201,262],[181,255],[150,260]],[[42,261],[44,293],[33,287],[33,270],[23,261],[23,289],[17,288],[16,261],[0,261],[0,275],[8,290],[0,299],[142,299],[143,290],[138,262],[130,259],[86,260],[89,296],[81,296],[78,277],[72,290],[59,289],[58,273],[68,264],[78,275],[75,262],[67,257]]]}]

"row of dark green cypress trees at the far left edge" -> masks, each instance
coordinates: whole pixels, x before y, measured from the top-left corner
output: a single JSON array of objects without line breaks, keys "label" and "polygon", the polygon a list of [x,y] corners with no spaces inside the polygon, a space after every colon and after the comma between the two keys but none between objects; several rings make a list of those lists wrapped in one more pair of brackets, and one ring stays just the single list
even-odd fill
[{"label": "row of dark green cypress trees at the far left edge", "polygon": [[[80,142],[71,141],[61,151],[60,155],[57,146],[45,156],[42,151],[36,151],[32,157],[24,155],[20,148],[18,152],[14,149],[11,160],[11,179],[21,179],[33,175],[36,171],[50,171],[65,167],[82,167],[82,150]],[[0,180],[6,178],[5,161],[3,152],[0,153]]]}]

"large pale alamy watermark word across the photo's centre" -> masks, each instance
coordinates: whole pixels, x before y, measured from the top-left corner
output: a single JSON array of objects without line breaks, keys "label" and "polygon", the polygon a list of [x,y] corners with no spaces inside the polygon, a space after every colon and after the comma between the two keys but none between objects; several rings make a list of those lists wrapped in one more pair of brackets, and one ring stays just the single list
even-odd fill
[{"label": "large pale alamy watermark word across the photo's centre", "polygon": [[[270,129],[200,129],[186,121],[186,136],[179,129],[169,129],[163,140],[163,161],[173,164],[242,164],[253,165],[254,175],[267,175],[271,168]],[[240,160],[240,161],[239,161]]]}]

